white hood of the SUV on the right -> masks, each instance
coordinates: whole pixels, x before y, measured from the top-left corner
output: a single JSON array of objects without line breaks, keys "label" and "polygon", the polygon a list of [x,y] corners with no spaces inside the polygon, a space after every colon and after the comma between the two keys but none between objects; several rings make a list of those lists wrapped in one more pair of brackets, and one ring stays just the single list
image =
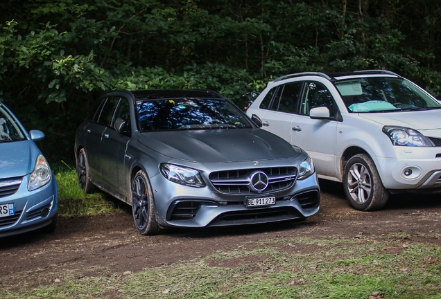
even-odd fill
[{"label": "white hood of the SUV on the right", "polygon": [[397,125],[417,130],[441,129],[441,110],[358,114],[381,125]]}]

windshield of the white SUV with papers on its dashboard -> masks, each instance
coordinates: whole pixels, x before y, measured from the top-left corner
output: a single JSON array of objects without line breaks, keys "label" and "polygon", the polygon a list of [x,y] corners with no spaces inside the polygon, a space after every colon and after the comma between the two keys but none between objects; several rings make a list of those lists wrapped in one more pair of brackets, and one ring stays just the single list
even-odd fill
[{"label": "windshield of the white SUV with papers on its dashboard", "polygon": [[403,78],[365,77],[335,83],[350,112],[440,109],[441,105]]}]

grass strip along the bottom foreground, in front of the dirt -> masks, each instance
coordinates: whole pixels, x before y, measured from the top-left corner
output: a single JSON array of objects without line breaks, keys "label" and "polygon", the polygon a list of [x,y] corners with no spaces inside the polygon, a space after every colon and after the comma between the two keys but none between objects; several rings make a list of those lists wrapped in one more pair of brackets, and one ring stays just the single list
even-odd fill
[{"label": "grass strip along the bottom foreground, in front of the dirt", "polygon": [[[314,248],[328,239],[302,238]],[[257,242],[270,250],[234,250],[200,260],[119,273],[83,277],[56,273],[60,282],[30,289],[5,289],[3,298],[441,298],[441,248],[428,244],[403,247],[400,240],[354,242],[295,253],[275,249],[279,239]],[[384,248],[399,248],[389,253]],[[262,259],[262,255],[265,259]],[[240,257],[256,257],[242,263]],[[210,261],[234,259],[234,267]],[[80,271],[80,270],[78,270]],[[99,273],[99,271],[98,271]],[[19,273],[15,274],[19,275]],[[80,277],[80,278],[78,278]]]}]

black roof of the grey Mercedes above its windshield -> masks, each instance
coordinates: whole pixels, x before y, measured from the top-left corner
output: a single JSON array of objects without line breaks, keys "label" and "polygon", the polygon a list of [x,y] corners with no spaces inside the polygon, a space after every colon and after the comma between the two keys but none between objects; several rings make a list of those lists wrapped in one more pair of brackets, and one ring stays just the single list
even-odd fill
[{"label": "black roof of the grey Mercedes above its windshield", "polygon": [[219,98],[216,91],[209,89],[145,89],[131,91],[137,100],[155,100],[161,98]]}]

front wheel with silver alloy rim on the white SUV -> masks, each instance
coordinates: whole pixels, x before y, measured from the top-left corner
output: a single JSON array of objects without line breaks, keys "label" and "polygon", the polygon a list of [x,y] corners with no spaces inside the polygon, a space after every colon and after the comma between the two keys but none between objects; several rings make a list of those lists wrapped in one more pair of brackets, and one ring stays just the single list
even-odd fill
[{"label": "front wheel with silver alloy rim on the white SUV", "polygon": [[343,186],[349,205],[356,210],[379,210],[388,201],[389,192],[381,183],[374,161],[367,154],[349,158],[343,174]]}]

